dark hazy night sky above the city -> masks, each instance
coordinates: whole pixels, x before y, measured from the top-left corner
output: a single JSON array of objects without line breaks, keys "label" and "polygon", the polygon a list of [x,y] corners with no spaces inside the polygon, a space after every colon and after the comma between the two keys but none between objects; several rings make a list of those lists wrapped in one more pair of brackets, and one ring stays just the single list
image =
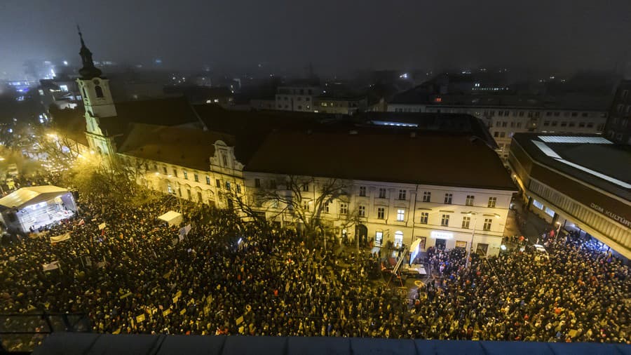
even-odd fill
[{"label": "dark hazy night sky above the city", "polygon": [[76,22],[96,59],[182,69],[574,70],[631,60],[630,0],[0,0],[0,74],[28,58],[78,61]]}]

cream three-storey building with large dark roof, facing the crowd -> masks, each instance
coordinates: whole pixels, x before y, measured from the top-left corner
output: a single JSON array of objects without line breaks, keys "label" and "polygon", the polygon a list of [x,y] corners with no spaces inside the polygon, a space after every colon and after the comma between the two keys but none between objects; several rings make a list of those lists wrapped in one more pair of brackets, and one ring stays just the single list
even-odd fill
[{"label": "cream three-storey building with large dark roof, facing the crowd", "polygon": [[[482,255],[499,252],[516,192],[486,143],[445,133],[276,131],[245,164],[244,176],[257,209],[281,225],[300,229],[301,219],[320,218],[325,234],[375,246],[421,239],[423,249],[468,248],[473,239]],[[344,194],[329,194],[332,182]],[[257,201],[269,194],[283,199]]]}]

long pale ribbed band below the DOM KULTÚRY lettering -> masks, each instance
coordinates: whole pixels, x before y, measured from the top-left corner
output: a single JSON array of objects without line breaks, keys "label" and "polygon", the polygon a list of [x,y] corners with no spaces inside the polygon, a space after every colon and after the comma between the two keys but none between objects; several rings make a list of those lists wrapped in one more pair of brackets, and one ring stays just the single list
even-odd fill
[{"label": "long pale ribbed band below the DOM KULT\u00daRY lettering", "polygon": [[[577,220],[589,225],[603,235],[617,241],[625,247],[631,246],[630,235],[624,230],[623,227],[619,227],[616,222],[613,222],[607,217],[602,217],[599,213],[581,206],[576,201],[569,199],[568,197],[558,194],[549,187],[536,182],[530,181],[529,188],[535,194],[547,199],[555,206],[562,208],[566,213],[573,215]],[[541,203],[540,203],[541,204]],[[543,206],[543,205],[542,205]],[[538,207],[539,208],[539,207]]]}]

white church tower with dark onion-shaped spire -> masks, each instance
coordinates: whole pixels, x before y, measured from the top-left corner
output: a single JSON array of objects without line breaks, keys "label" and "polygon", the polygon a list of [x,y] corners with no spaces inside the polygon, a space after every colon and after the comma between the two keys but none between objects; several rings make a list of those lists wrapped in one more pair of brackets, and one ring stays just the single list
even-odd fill
[{"label": "white church tower with dark onion-shaped spire", "polygon": [[100,69],[94,66],[92,52],[83,42],[83,35],[79,26],[77,29],[79,30],[79,39],[81,39],[79,55],[81,55],[83,67],[79,69],[80,76],[76,82],[79,84],[83,107],[86,109],[86,136],[90,149],[111,156],[114,154],[113,142],[111,138],[107,137],[107,132],[104,132],[100,127],[102,119],[116,116],[116,107],[109,90],[109,80],[102,75]]}]

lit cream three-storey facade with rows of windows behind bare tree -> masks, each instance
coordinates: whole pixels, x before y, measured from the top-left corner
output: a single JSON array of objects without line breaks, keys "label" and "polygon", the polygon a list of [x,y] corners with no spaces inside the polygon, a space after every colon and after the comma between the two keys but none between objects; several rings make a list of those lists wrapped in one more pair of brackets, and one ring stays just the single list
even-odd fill
[{"label": "lit cream three-storey facade with rows of windows behind bare tree", "polygon": [[[270,187],[270,181],[276,182],[278,191],[285,189],[286,175],[273,173],[245,172],[245,186],[248,194],[256,194],[261,189]],[[258,180],[258,182],[257,182]],[[325,182],[324,178],[315,178],[316,185]],[[365,187],[365,190],[360,189]],[[365,196],[361,196],[365,191]],[[385,195],[383,193],[385,192]],[[430,193],[430,201],[423,201],[426,192]],[[287,192],[290,194],[290,192]],[[309,187],[303,192],[304,199],[315,199],[319,190]],[[513,192],[493,189],[473,189],[462,187],[440,187],[433,185],[411,185],[388,182],[374,182],[351,180],[348,181],[350,199],[347,203],[348,212],[340,214],[341,203],[334,201],[329,212],[324,213],[325,225],[330,228],[327,232],[341,237],[344,229],[349,236],[355,235],[355,225],[365,225],[368,240],[375,242],[377,232],[383,234],[382,246],[388,241],[395,242],[397,232],[402,232],[402,243],[409,246],[416,238],[426,239],[425,248],[434,246],[437,239],[445,237],[446,247],[455,248],[470,245],[475,222],[474,250],[478,243],[488,244],[487,255],[496,255],[501,246],[501,239],[506,225],[508,208]],[[401,194],[401,195],[400,195]],[[452,194],[451,203],[445,203],[445,194]],[[475,196],[473,206],[467,205],[467,196]],[[402,196],[403,199],[399,199]],[[489,198],[496,199],[495,207],[489,207]],[[254,197],[250,196],[250,199]],[[358,215],[360,206],[364,207],[365,215]],[[266,217],[276,217],[281,224],[297,222],[288,213],[282,213],[287,206],[258,206],[257,209],[266,213]],[[380,209],[383,208],[383,217]],[[400,211],[402,213],[400,213]],[[313,212],[313,211],[311,211]],[[427,213],[426,220],[423,213]],[[468,215],[468,213],[472,213]],[[348,216],[353,214],[352,216]],[[402,215],[402,220],[400,220]],[[447,225],[442,225],[443,215],[449,216]],[[355,220],[356,217],[356,220]],[[463,217],[470,218],[469,227],[463,228]],[[349,218],[351,219],[349,221]],[[490,220],[490,229],[484,230],[485,220]]]}]

